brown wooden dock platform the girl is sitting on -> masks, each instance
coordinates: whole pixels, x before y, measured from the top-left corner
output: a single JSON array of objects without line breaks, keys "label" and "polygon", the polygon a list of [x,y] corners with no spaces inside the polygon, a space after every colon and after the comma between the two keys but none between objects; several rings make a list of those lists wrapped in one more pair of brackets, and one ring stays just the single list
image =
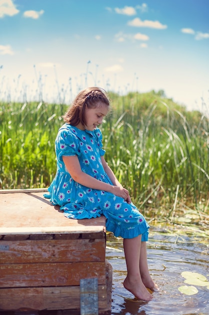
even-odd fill
[{"label": "brown wooden dock platform the girl is sitting on", "polygon": [[[105,217],[68,219],[43,193],[0,190],[0,314],[62,310],[85,315],[92,304],[97,305],[92,314],[111,314]],[[81,290],[88,279],[97,281],[94,291]],[[81,304],[84,291],[89,298]]]}]

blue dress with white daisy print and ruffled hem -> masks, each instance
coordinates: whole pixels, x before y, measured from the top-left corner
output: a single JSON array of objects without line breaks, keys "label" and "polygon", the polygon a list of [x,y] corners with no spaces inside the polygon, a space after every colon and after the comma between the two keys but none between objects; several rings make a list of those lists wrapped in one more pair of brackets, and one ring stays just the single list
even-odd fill
[{"label": "blue dress with white daisy print and ruffled hem", "polygon": [[70,124],[64,124],[55,141],[57,155],[57,173],[45,194],[53,205],[59,205],[64,215],[73,219],[106,217],[106,228],[116,237],[131,239],[142,234],[142,241],[148,240],[149,225],[143,215],[133,205],[112,193],[91,189],[75,182],[63,162],[63,155],[77,155],[83,172],[96,179],[109,183],[101,156],[102,134],[100,129],[94,131],[80,130]]}]

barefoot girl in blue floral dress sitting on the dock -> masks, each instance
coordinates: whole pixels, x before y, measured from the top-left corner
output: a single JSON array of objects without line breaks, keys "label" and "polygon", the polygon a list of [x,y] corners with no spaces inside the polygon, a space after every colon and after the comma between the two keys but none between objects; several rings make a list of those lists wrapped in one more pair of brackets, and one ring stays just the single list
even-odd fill
[{"label": "barefoot girl in blue floral dress sitting on the dock", "polygon": [[104,159],[102,134],[98,125],[109,111],[109,100],[100,88],[81,91],[63,116],[55,149],[57,173],[49,187],[53,205],[64,215],[83,219],[106,217],[106,228],[122,237],[127,266],[124,287],[137,298],[152,299],[147,265],[148,224],[131,203],[129,192],[116,179]]}]

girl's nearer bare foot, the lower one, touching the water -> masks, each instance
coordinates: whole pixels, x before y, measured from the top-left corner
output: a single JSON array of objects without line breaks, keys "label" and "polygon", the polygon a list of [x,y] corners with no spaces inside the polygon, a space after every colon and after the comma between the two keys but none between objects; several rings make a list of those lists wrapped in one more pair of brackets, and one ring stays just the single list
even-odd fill
[{"label": "girl's nearer bare foot, the lower one, touching the water", "polygon": [[134,278],[133,280],[129,280],[128,277],[125,278],[123,282],[123,286],[126,290],[130,291],[135,297],[143,301],[151,301],[152,296],[145,288],[141,279]]}]

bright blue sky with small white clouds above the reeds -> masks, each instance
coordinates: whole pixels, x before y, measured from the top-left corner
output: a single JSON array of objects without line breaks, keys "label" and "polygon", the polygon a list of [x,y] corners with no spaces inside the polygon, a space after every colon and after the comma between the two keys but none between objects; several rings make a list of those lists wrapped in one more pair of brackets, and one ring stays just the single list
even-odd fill
[{"label": "bright blue sky with small white clouds above the reeds", "polygon": [[208,106],[208,0],[0,0],[0,98],[164,90]]}]

